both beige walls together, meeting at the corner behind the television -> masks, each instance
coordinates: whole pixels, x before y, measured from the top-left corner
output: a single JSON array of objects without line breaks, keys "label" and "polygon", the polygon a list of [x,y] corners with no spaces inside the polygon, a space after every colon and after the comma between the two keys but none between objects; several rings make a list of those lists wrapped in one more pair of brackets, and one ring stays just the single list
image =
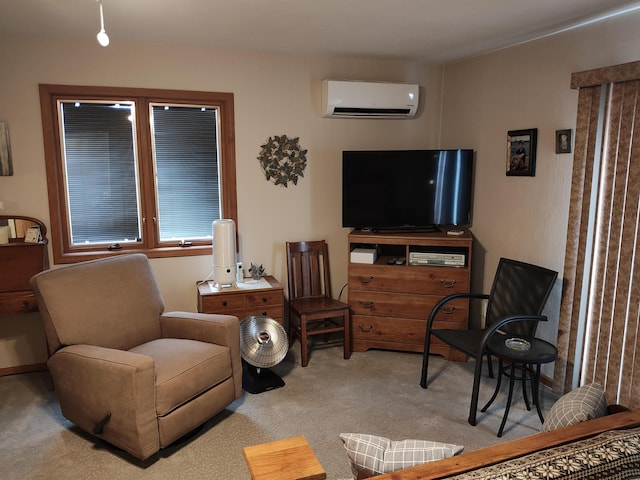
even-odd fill
[{"label": "both beige walls together, meeting at the corner behind the television", "polygon": [[[235,93],[240,254],[285,280],[284,242],[326,238],[334,290],[346,282],[340,226],[340,152],[356,148],[466,147],[477,151],[473,233],[476,288],[488,288],[500,256],[562,272],[571,155],[555,154],[555,130],[574,128],[571,72],[637,60],[640,15],[632,14],[445,67],[354,58],[293,57],[95,40],[0,36],[0,120],[9,122],[15,175],[0,177],[3,213],[49,224],[38,83],[217,90]],[[419,83],[411,121],[319,116],[320,80]],[[445,85],[441,97],[441,84]],[[442,111],[442,125],[440,114]],[[537,174],[507,178],[506,132],[539,130]],[[259,146],[299,136],[309,164],[298,186],[267,183]],[[440,141],[440,135],[441,141]],[[167,306],[195,309],[209,257],[153,260]],[[559,288],[552,298],[557,308]],[[548,332],[553,336],[553,329]],[[0,368],[44,359],[37,321],[0,322]]]}]

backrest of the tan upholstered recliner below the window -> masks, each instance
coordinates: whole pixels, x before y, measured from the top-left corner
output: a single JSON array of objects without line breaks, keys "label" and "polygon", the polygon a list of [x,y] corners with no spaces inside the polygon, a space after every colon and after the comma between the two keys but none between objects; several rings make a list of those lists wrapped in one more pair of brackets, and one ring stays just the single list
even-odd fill
[{"label": "backrest of the tan upholstered recliner below the window", "polygon": [[49,353],[88,344],[128,350],[160,338],[164,302],[143,254],[92,260],[32,277]]}]

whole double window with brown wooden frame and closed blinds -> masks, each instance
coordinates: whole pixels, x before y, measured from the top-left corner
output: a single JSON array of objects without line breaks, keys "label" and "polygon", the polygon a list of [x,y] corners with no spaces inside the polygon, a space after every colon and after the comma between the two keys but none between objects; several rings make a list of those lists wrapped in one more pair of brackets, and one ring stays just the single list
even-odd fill
[{"label": "whole double window with brown wooden frame and closed blinds", "polygon": [[232,94],[40,93],[56,263],[120,250],[202,255],[214,220],[237,222]]}]

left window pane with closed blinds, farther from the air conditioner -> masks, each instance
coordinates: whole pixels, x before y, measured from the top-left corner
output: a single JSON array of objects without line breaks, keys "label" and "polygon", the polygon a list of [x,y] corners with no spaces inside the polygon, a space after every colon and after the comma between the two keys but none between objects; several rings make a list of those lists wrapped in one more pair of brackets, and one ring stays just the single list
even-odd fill
[{"label": "left window pane with closed blinds, farther from the air conditioner", "polygon": [[141,241],[131,103],[60,103],[72,245]]}]

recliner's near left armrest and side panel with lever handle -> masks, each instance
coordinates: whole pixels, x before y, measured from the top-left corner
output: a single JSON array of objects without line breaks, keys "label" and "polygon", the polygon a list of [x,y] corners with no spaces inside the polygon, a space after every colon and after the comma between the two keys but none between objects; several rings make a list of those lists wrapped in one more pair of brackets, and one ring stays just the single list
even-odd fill
[{"label": "recliner's near left armrest and side panel with lever handle", "polygon": [[54,353],[47,365],[66,418],[88,432],[102,424],[101,438],[138,458],[158,451],[151,357],[71,345]]}]

